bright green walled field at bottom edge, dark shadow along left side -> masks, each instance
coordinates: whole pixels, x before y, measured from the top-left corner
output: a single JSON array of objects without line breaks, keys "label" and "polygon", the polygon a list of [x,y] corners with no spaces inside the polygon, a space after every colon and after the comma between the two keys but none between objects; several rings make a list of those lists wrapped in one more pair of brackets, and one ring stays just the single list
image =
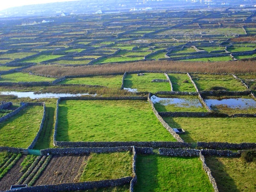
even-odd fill
[{"label": "bright green walled field at bottom edge, dark shadow along left side", "polygon": [[198,157],[137,156],[134,191],[214,191]]}]

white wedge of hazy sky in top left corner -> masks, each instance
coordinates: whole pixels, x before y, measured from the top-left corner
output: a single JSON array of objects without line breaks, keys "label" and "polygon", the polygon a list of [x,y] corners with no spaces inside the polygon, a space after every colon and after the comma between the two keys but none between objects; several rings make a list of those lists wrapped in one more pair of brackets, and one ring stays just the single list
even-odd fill
[{"label": "white wedge of hazy sky in top left corner", "polygon": [[4,10],[10,7],[18,7],[22,5],[63,2],[63,1],[77,1],[77,0],[3,0],[1,1],[0,10]]}]

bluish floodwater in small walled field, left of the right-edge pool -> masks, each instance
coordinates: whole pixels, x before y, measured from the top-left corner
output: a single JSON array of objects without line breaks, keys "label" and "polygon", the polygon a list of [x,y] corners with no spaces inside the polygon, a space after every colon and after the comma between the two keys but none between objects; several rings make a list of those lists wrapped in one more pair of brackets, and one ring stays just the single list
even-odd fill
[{"label": "bluish floodwater in small walled field, left of the right-edge pool", "polygon": [[153,103],[160,103],[161,105],[175,105],[177,107],[203,107],[199,99],[179,99],[179,98],[159,98],[155,95],[150,98]]}]

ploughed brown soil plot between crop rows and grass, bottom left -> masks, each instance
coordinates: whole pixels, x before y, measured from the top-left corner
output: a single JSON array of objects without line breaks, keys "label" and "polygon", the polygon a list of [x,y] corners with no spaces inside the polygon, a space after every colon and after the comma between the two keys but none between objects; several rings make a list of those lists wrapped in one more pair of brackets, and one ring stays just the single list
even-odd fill
[{"label": "ploughed brown soil plot between crop rows and grass, bottom left", "polygon": [[88,157],[85,155],[53,156],[34,186],[79,182]]}]

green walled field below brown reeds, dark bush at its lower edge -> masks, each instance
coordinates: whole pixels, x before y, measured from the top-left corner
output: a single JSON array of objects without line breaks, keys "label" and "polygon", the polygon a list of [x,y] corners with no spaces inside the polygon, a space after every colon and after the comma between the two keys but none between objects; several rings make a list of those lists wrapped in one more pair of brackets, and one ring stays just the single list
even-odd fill
[{"label": "green walled field below brown reeds, dark bush at its lower edge", "polygon": [[246,90],[246,87],[241,83],[241,81],[235,79],[231,75],[193,74],[191,77],[199,91],[218,89],[223,89],[226,91]]}]

